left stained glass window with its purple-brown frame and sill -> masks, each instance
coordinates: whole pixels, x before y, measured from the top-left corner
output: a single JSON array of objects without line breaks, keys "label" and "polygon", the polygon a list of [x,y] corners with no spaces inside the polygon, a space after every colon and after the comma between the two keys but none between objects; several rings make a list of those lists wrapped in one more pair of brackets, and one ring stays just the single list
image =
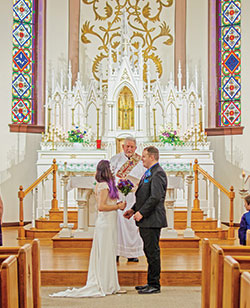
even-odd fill
[{"label": "left stained glass window with its purple-brown frame and sill", "polygon": [[44,131],[46,0],[13,0],[10,131]]}]

